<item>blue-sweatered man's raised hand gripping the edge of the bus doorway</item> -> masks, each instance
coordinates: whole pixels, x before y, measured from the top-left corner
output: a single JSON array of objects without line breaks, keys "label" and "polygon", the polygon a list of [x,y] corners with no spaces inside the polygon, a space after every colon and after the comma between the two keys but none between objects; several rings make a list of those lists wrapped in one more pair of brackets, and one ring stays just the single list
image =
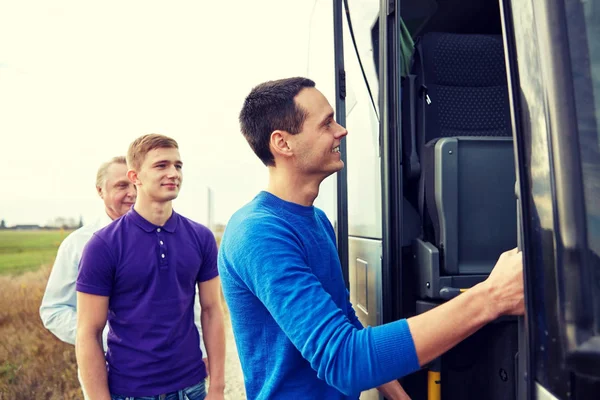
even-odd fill
[{"label": "blue-sweatered man's raised hand gripping the edge of the bus doorway", "polygon": [[492,319],[501,315],[523,315],[523,254],[516,248],[502,253],[483,285],[490,295]]}]

